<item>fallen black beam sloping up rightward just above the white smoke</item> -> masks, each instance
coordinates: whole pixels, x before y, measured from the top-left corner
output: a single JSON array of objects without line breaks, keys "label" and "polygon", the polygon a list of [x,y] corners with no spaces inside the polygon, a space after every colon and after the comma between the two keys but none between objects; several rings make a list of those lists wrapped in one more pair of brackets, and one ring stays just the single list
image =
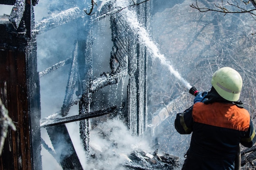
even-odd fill
[{"label": "fallen black beam sloping up rightward just above the white smoke", "polygon": [[58,124],[65,124],[65,123],[70,123],[70,122],[76,122],[79,120],[96,118],[99,116],[109,114],[112,111],[115,111],[116,108],[117,108],[116,106],[113,106],[113,107],[109,107],[107,109],[90,112],[88,114],[80,114],[80,115],[70,116],[70,117],[66,117],[66,118],[55,118],[55,119],[51,119],[51,120],[46,120],[46,122],[41,123],[40,127],[55,126]]}]

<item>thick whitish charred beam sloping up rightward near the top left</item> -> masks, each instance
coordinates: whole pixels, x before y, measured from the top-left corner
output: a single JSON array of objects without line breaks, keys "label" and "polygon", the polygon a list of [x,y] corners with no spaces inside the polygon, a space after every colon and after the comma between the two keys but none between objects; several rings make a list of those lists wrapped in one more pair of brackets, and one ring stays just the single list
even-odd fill
[{"label": "thick whitish charred beam sloping up rightward near the top left", "polygon": [[68,22],[72,22],[80,17],[85,15],[85,12],[78,7],[67,9],[58,14],[52,14],[50,17],[36,22],[34,32],[36,34],[41,34],[46,31],[49,31],[57,26],[61,26]]}]

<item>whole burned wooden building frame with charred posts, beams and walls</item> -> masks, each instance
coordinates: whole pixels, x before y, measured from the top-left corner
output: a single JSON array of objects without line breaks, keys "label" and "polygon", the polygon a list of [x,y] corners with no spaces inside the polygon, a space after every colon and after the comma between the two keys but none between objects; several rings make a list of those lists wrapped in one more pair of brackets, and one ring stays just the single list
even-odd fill
[{"label": "whole burned wooden building frame with charred posts, beams and walls", "polygon": [[[150,3],[144,2],[132,9],[138,13],[139,22],[145,28],[149,26]],[[0,20],[0,98],[16,126],[16,131],[9,128],[7,132],[0,157],[2,170],[42,169],[41,144],[63,169],[83,169],[65,123],[79,121],[80,137],[84,149],[89,152],[90,118],[124,107],[115,105],[90,111],[92,96],[105,86],[120,83],[124,77],[128,77],[128,87],[123,118],[132,135],[141,136],[146,131],[150,122],[147,110],[150,54],[143,44],[138,43],[139,37],[122,17],[124,11],[120,7],[110,1],[104,4],[100,12],[91,16],[83,10],[91,1],[62,1],[58,4],[60,12],[35,22],[34,6],[38,4],[37,0],[1,0],[0,4],[13,6],[10,14],[1,16]],[[105,17],[110,17],[112,31],[113,48],[109,54],[111,72],[104,72],[93,79],[94,24]],[[47,34],[47,31],[70,22],[76,28],[72,57],[67,56],[65,60],[38,72],[36,36]],[[60,111],[41,118],[40,78],[64,65],[70,65],[70,71],[63,106]],[[76,99],[73,99],[74,94]],[[79,113],[67,117],[73,105],[79,105]],[[54,150],[41,138],[40,128],[46,128]],[[68,155],[63,154],[62,145],[70,150]]]}]

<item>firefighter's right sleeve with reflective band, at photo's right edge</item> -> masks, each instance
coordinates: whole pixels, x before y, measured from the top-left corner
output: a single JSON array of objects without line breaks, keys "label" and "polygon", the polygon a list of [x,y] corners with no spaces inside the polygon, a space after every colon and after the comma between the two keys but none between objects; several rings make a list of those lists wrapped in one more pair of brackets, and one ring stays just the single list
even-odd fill
[{"label": "firefighter's right sleeve with reflective band, at photo's right edge", "polygon": [[252,147],[256,142],[256,131],[252,120],[250,120],[250,126],[247,130],[245,137],[241,139],[241,144],[247,148]]}]

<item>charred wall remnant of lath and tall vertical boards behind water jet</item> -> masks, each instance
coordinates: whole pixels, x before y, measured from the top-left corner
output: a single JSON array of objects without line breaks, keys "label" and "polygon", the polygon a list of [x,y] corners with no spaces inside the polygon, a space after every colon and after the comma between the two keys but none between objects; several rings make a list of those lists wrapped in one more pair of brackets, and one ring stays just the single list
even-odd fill
[{"label": "charred wall remnant of lath and tall vertical boards behind water jet", "polygon": [[[141,7],[134,13],[146,13],[145,8]],[[139,15],[142,23],[148,20],[148,15]],[[137,19],[134,18],[136,21]],[[148,122],[147,98],[146,98],[146,72],[148,52],[144,44],[138,43],[138,33],[128,23],[125,10],[111,16],[111,29],[113,48],[111,51],[110,68],[112,72],[121,72],[128,68],[128,126],[131,134],[141,136],[146,131]],[[146,24],[144,23],[146,26]]]}]

